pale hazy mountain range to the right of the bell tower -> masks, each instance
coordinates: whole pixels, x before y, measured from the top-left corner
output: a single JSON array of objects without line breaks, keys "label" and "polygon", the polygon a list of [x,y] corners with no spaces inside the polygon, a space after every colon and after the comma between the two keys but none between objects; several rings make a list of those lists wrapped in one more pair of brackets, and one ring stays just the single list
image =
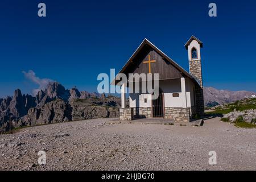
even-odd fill
[{"label": "pale hazy mountain range to the right of the bell tower", "polygon": [[229,91],[217,90],[212,87],[204,87],[204,104],[205,106],[216,106],[228,102],[235,102],[243,98],[250,98],[255,92],[248,91]]}]

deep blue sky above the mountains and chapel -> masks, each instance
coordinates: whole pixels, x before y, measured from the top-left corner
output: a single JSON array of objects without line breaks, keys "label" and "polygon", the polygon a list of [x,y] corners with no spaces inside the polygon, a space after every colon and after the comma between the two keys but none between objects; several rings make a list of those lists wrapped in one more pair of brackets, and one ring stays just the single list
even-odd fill
[{"label": "deep blue sky above the mountains and chapel", "polygon": [[[208,16],[210,2],[216,18]],[[38,89],[24,76],[30,70],[96,91],[97,75],[119,71],[144,38],[188,70],[191,35],[204,43],[204,86],[256,92],[255,1],[3,0],[0,7],[0,97]]]}]

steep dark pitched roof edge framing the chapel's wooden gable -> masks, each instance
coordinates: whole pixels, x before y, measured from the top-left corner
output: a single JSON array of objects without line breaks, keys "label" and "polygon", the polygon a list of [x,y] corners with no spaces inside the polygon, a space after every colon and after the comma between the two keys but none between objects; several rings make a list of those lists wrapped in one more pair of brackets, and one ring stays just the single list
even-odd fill
[{"label": "steep dark pitched roof edge framing the chapel's wooden gable", "polygon": [[[129,60],[126,62],[126,64],[123,66],[123,68],[119,71],[119,73],[124,73],[126,71],[126,68],[132,63],[134,57],[139,53],[139,51],[141,51],[141,49],[145,46],[148,45],[150,46],[152,49],[154,49],[156,52],[159,53],[159,55],[161,55],[162,57],[164,57],[164,59],[166,59],[167,61],[169,61],[172,65],[174,65],[174,67],[176,67],[181,73],[183,73],[185,76],[189,77],[192,79],[192,81],[196,82],[197,84],[199,84],[199,82],[196,81],[195,77],[193,77],[190,73],[188,73],[187,71],[185,71],[185,69],[183,69],[182,67],[180,67],[179,64],[177,64],[174,60],[172,60],[170,57],[168,57],[165,53],[163,53],[159,48],[157,48],[154,44],[152,44],[149,40],[147,40],[146,38],[143,40],[143,42],[139,45],[139,47],[136,49],[136,51],[133,53],[133,55],[131,55],[131,57],[129,58]],[[111,84],[117,84],[117,82],[114,83],[114,80],[112,81]]]}]

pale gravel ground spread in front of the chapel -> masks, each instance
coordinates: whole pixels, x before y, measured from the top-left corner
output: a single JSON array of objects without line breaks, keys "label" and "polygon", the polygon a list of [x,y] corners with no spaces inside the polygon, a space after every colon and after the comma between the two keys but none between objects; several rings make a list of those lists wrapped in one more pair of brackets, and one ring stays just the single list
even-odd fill
[{"label": "pale gravel ground spread in front of the chapel", "polygon": [[[256,170],[256,129],[219,118],[204,126],[56,123],[0,135],[1,170]],[[46,152],[46,165],[38,152]],[[217,165],[210,166],[209,151]]]}]

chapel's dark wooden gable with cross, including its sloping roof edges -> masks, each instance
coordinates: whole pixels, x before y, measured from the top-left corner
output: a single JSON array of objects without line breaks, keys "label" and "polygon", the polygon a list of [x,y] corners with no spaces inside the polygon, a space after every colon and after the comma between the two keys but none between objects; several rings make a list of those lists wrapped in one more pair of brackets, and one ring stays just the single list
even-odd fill
[{"label": "chapel's dark wooden gable with cross, including its sloping roof edges", "polygon": [[[149,60],[154,62],[148,63]],[[125,73],[128,77],[129,73],[141,74],[150,72],[152,74],[159,73],[159,80],[189,77],[198,84],[195,78],[175,63],[174,60],[165,55],[147,39],[144,39],[119,73]],[[116,80],[115,84],[118,82]]]}]

